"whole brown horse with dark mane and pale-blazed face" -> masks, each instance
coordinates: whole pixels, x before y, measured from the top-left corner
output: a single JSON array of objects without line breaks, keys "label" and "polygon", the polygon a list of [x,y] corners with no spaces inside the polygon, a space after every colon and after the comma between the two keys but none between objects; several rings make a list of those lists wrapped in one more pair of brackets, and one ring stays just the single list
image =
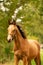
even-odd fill
[{"label": "whole brown horse with dark mane and pale-blazed face", "polygon": [[31,65],[34,59],[36,65],[41,65],[40,44],[36,40],[27,39],[25,33],[15,21],[9,21],[7,41],[14,40],[14,62],[18,65],[23,61],[23,65]]}]

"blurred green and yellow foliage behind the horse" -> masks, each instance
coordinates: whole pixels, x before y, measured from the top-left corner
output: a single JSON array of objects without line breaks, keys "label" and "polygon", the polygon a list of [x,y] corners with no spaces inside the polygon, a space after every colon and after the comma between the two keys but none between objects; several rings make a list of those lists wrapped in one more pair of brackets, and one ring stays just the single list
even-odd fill
[{"label": "blurred green and yellow foliage behind the horse", "polygon": [[0,63],[14,59],[14,42],[7,42],[8,20],[12,18],[28,39],[43,44],[43,0],[0,0]]}]

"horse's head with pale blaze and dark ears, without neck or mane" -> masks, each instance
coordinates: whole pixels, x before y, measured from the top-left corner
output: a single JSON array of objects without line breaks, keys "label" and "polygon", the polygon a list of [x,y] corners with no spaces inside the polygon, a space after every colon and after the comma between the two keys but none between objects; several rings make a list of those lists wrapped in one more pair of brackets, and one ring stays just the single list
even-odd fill
[{"label": "horse's head with pale blaze and dark ears, without neck or mane", "polygon": [[14,39],[14,36],[16,34],[16,22],[14,20],[9,21],[9,27],[8,27],[8,37],[7,41],[10,42]]}]

